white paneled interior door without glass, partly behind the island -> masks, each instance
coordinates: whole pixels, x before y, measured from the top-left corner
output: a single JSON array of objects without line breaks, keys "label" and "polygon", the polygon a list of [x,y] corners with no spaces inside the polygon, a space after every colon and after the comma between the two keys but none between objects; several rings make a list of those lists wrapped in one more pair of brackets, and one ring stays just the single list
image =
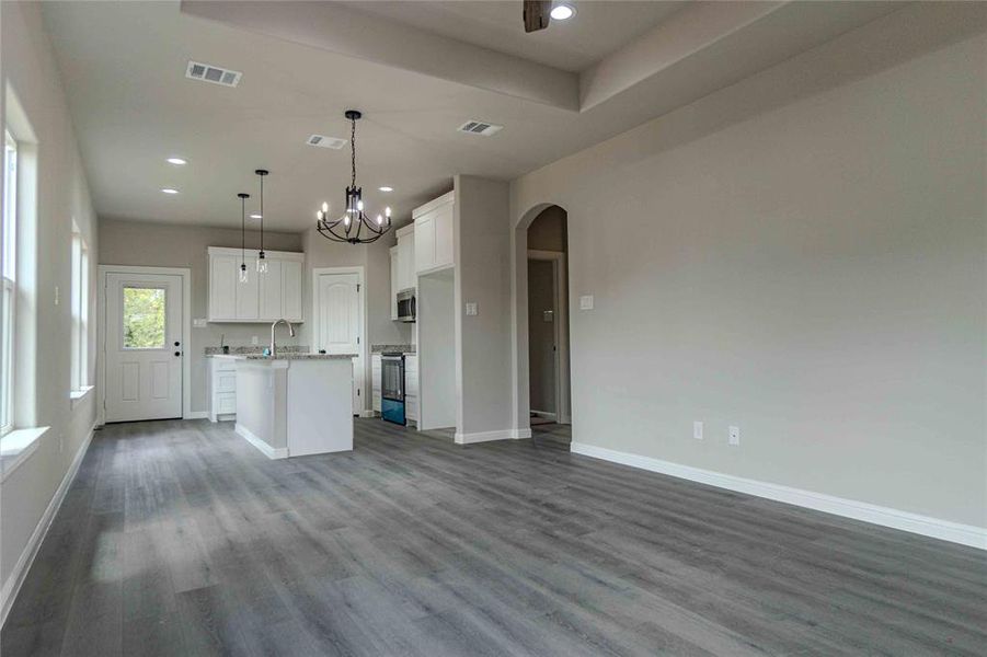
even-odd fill
[{"label": "white paneled interior door without glass, partly behind the island", "polygon": [[357,354],[353,359],[353,414],[364,408],[363,303],[358,274],[319,275],[319,335],[315,349]]}]

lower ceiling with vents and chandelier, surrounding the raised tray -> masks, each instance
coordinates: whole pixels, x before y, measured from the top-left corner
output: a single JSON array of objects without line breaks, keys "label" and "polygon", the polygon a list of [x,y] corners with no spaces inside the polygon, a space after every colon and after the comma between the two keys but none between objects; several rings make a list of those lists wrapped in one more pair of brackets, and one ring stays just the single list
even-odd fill
[{"label": "lower ceiling with vents and chandelier, surrounding the raised tray", "polygon": [[[490,53],[487,47],[475,47],[486,39],[481,23],[489,15],[494,25],[491,31],[496,33],[506,28],[504,21],[509,18],[509,8],[503,7],[508,3],[492,4],[478,4],[477,18],[463,21],[458,34],[460,41],[477,42],[468,47],[475,48],[480,58],[489,58]],[[686,11],[662,21],[662,12],[670,11],[664,5],[645,11],[639,3],[613,2],[605,3],[608,11],[599,13],[598,8],[586,4],[577,3],[578,14],[573,19],[587,22],[574,27],[586,34],[581,39],[592,42],[579,47],[585,60],[605,55],[632,16],[639,28],[639,21],[658,21],[652,30],[667,22],[666,32],[672,32]],[[687,9],[698,3],[689,4]],[[484,71],[485,82],[471,84],[370,60],[372,47],[366,56],[341,55],[312,42],[311,35],[294,38],[290,30],[297,25],[275,24],[277,16],[297,19],[307,11],[320,11],[322,7],[314,3],[267,5],[274,10],[274,19],[268,12],[260,27],[250,30],[222,18],[191,15],[174,1],[46,2],[44,16],[101,217],[239,227],[236,195],[255,193],[253,171],[265,168],[271,170],[265,181],[265,228],[298,231],[313,223],[314,210],[323,200],[336,207],[341,204],[349,178],[348,150],[312,148],[305,141],[311,134],[347,137],[348,124],[342,116],[347,107],[365,113],[357,131],[358,182],[369,209],[377,211],[388,203],[399,222],[406,221],[412,208],[451,188],[455,173],[514,178],[894,9],[885,2],[773,4],[782,9],[749,28],[731,28],[730,34],[715,38],[703,36],[709,43],[699,56],[685,34],[688,31],[682,30],[681,38],[657,33],[661,43],[678,48],[661,51],[661,70],[584,112],[510,93],[515,78],[498,73],[496,67]],[[221,2],[213,9],[253,11],[263,5]],[[462,5],[428,10],[448,14],[433,26],[449,28],[456,12],[468,9]],[[402,15],[408,11],[400,7],[370,10]],[[366,20],[370,10],[353,13]],[[405,20],[397,14],[390,18],[399,25]],[[588,24],[596,21],[605,25],[598,42]],[[372,23],[349,24],[358,35],[364,27],[368,32],[375,28]],[[280,37],[262,33],[268,28],[280,30]],[[411,41],[415,28],[400,30]],[[649,34],[655,36],[652,32],[641,38]],[[565,39],[551,41],[551,47],[532,55],[525,44],[516,45],[506,37],[497,42],[507,55],[520,57],[516,59],[520,62],[525,57],[555,57],[567,47]],[[389,56],[400,56],[401,47],[402,43],[391,44]],[[470,55],[469,50],[460,53]],[[239,88],[227,89],[187,80],[184,71],[190,59],[242,71],[242,81]],[[454,73],[457,64],[452,62]],[[515,64],[510,70],[524,74],[525,66]],[[538,66],[531,64],[540,74],[543,71]],[[456,131],[472,118],[505,128],[491,138]],[[186,158],[188,164],[175,168],[165,163],[171,155]],[[377,192],[380,185],[395,191],[383,195]],[[176,187],[181,194],[167,196],[161,187]]]}]

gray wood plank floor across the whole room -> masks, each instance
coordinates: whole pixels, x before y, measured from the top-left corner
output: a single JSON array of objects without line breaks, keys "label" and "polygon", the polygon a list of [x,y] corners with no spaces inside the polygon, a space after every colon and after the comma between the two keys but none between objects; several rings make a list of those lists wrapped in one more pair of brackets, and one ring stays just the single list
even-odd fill
[{"label": "gray wood plank floor across the whole room", "polygon": [[987,558],[570,454],[380,420],[268,461],[96,434],[0,635],[21,655],[985,655]]}]

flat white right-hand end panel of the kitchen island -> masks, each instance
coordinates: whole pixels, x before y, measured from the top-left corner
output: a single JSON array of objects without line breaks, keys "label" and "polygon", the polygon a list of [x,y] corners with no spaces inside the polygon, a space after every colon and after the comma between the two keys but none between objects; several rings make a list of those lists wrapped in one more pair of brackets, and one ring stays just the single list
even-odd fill
[{"label": "flat white right-hand end panel of the kitchen island", "polygon": [[353,449],[353,361],[291,360],[288,368],[288,454]]}]

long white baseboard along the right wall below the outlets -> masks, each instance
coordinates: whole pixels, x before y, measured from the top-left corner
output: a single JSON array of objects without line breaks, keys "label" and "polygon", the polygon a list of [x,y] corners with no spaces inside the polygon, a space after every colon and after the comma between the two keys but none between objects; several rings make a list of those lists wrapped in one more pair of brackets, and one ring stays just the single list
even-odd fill
[{"label": "long white baseboard along the right wall below the outlets", "polygon": [[621,452],[595,445],[586,445],[585,442],[573,442],[571,451],[585,457],[602,459],[613,463],[621,463],[632,468],[640,468],[651,472],[659,472],[670,476],[709,484],[728,491],[746,493],[756,497],[765,497],[776,502],[783,502],[816,511],[842,516],[843,518],[852,518],[862,520],[882,527],[899,529],[911,533],[931,537],[951,543],[961,543],[971,548],[987,550],[987,528],[976,527],[973,525],[962,525],[950,520],[941,520],[930,516],[920,516],[909,511],[902,511],[888,507],[882,507],[865,502],[857,502],[826,495],[823,493],[814,493],[801,488],[792,488],[779,484],[768,482],[759,482],[756,480],[724,474],[722,472],[713,472],[711,470],[701,470],[690,465],[681,465],[650,457],[641,457],[628,452]]}]

